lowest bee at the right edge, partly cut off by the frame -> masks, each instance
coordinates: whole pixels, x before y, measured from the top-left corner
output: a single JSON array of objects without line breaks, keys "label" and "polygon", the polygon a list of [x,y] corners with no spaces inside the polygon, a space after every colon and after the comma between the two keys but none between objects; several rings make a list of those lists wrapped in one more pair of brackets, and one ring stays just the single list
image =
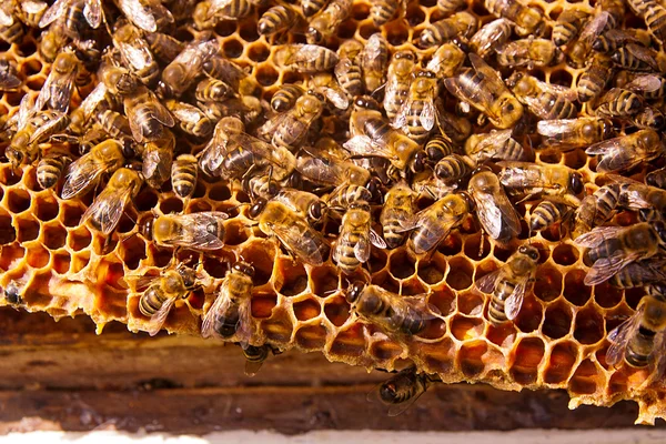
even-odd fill
[{"label": "lowest bee at the right edge, partly cut off by the frame", "polygon": [[657,283],[647,285],[646,290],[647,294],[638,303],[636,312],[608,333],[610,346],[606,352],[606,363],[615,366],[624,360],[632,367],[649,365],[652,380],[664,373],[666,287]]}]

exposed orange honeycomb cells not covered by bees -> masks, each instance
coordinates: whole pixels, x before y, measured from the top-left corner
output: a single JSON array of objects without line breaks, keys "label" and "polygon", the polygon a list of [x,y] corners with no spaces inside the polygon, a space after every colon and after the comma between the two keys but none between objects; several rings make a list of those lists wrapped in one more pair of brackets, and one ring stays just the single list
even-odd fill
[{"label": "exposed orange honeycomb cells not covered by bees", "polygon": [[[556,18],[565,2],[532,0],[528,4]],[[592,10],[589,0],[576,2]],[[283,83],[305,79],[296,70],[275,62],[279,44],[304,42],[304,36],[264,37],[256,21],[266,6],[238,21],[221,21],[214,29],[221,53],[246,67],[269,100]],[[377,28],[370,17],[371,4],[354,0],[351,16],[342,22],[329,48],[336,49],[345,39],[365,43],[380,31],[391,52],[410,49],[423,57],[415,38],[431,22],[444,18],[435,0],[410,2],[406,20],[394,20]],[[491,16],[480,1],[467,10],[481,23]],[[633,20],[636,27],[644,26]],[[36,95],[50,65],[38,48],[39,32],[31,30],[17,43],[0,42],[2,57],[16,62],[24,79],[18,92],[4,92],[0,114],[11,114],[24,93]],[[538,68],[533,74],[546,82],[575,85],[583,70],[566,62]],[[74,92],[73,103],[81,98]],[[4,143],[7,145],[7,143]],[[179,135],[179,147],[190,144]],[[74,150],[74,148],[72,148]],[[597,189],[594,160],[583,150],[569,152],[536,151],[537,164],[564,164],[586,179],[586,192]],[[441,315],[427,329],[405,342],[376,334],[351,312],[340,289],[347,285],[331,259],[319,266],[292,261],[280,244],[268,239],[246,215],[250,198],[239,183],[208,182],[199,179],[195,192],[183,202],[165,184],[159,192],[144,186],[110,236],[82,225],[81,216],[91,204],[94,191],[81,199],[62,200],[53,190],[42,190],[34,165],[12,170],[0,164],[0,285],[21,289],[20,306],[29,312],[44,311],[54,319],[85,314],[101,333],[111,321],[125,323],[133,332],[148,330],[148,319],[139,311],[140,294],[131,292],[123,276],[158,274],[173,261],[199,260],[199,269],[212,279],[208,285],[178,301],[164,329],[170,333],[199,335],[201,319],[215,299],[231,264],[244,260],[256,270],[251,301],[258,325],[253,344],[268,343],[280,350],[323,353],[332,362],[345,362],[372,369],[395,370],[415,364],[438,376],[444,383],[486,383],[501,390],[519,391],[564,389],[569,406],[608,406],[622,400],[639,405],[638,423],[666,417],[666,390],[649,383],[646,370],[626,365],[609,366],[605,352],[607,334],[636,310],[643,290],[619,290],[607,283],[586,286],[588,264],[569,238],[559,238],[556,229],[533,233],[532,245],[541,252],[537,281],[525,296],[514,322],[495,326],[484,312],[487,301],[473,290],[483,275],[500,268],[526,242],[523,226],[518,239],[500,244],[483,235],[470,215],[427,259],[414,259],[404,246],[373,249],[366,264],[371,282],[403,295],[428,293],[428,301]],[[420,202],[424,208],[428,202]],[[533,203],[517,205],[522,216]],[[138,234],[137,221],[157,210],[160,213],[224,211],[225,246],[206,254],[160,248]],[[629,225],[630,213],[619,213],[613,223]],[[335,234],[337,226],[325,228]],[[0,299],[0,306],[10,302]],[[270,371],[270,361],[263,371]]]}]

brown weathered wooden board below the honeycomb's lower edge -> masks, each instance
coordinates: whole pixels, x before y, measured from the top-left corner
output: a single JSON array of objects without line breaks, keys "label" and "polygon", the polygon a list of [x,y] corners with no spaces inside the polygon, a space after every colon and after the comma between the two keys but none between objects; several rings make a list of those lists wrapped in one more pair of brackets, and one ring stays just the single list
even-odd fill
[{"label": "brown weathered wooden board below the honeycomb's lower edge", "polygon": [[[284,353],[255,377],[236,347],[192,337],[133,335],[84,317],[54,323],[0,310],[0,433],[119,428],[203,434],[219,430],[470,431],[626,427],[637,408],[567,408],[563,392],[438,385],[391,418],[366,401],[381,372]],[[662,424],[660,424],[662,425]]]}]

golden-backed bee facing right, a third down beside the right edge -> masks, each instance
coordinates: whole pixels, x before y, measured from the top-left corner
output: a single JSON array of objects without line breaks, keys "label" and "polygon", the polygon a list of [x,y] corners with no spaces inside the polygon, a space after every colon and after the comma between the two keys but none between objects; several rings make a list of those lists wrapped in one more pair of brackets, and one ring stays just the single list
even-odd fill
[{"label": "golden-backed bee facing right, a third down beside the right edge", "polygon": [[608,173],[632,168],[658,158],[664,153],[662,138],[654,130],[640,130],[598,142],[585,150],[587,154],[599,155],[596,171]]}]

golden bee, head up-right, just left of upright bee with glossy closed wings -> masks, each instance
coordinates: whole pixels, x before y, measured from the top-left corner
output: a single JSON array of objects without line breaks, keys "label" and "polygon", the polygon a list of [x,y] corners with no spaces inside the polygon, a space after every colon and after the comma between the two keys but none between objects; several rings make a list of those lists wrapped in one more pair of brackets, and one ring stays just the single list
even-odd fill
[{"label": "golden bee, head up-right, just left of upright bee with glossy closed wings", "polygon": [[470,213],[470,201],[462,194],[448,193],[414,214],[404,225],[412,230],[407,246],[416,254],[435,249]]}]

